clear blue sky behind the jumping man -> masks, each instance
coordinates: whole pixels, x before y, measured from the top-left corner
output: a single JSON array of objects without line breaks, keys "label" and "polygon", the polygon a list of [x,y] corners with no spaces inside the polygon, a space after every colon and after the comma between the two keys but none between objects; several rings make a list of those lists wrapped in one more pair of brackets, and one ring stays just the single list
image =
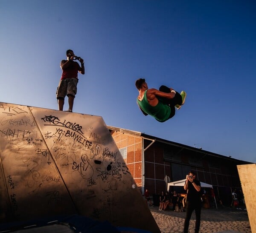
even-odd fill
[{"label": "clear blue sky behind the jumping man", "polygon": [[[253,0],[1,0],[0,101],[58,109],[73,49],[85,63],[74,112],[255,163],[255,12]],[[186,103],[165,123],[145,117],[138,78]]]}]

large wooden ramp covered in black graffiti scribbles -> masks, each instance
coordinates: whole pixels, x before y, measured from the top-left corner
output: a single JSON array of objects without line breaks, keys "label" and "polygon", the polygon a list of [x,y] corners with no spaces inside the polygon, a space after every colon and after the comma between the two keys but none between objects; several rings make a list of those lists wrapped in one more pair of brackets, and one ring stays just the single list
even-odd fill
[{"label": "large wooden ramp covered in black graffiti scribbles", "polygon": [[160,232],[102,117],[0,102],[0,222],[59,214]]}]

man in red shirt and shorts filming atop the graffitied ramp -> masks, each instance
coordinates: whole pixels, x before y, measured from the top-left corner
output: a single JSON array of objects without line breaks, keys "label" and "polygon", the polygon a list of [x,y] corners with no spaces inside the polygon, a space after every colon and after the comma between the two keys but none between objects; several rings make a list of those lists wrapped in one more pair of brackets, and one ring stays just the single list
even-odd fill
[{"label": "man in red shirt and shorts filming atop the graffitied ramp", "polygon": [[[58,109],[63,111],[64,98],[67,95],[69,105],[69,109],[67,111],[72,112],[74,98],[77,92],[78,72],[84,75],[84,60],[74,55],[74,52],[71,49],[67,50],[66,55],[67,60],[61,60],[62,75],[56,95],[58,100]],[[79,60],[81,66],[74,60]]]}]

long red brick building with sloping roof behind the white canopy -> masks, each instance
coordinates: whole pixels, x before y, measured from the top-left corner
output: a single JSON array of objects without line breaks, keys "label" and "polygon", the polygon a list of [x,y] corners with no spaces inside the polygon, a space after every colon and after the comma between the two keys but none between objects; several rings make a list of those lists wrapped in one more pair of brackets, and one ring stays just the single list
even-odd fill
[{"label": "long red brick building with sloping roof behind the white canopy", "polygon": [[166,179],[181,180],[193,170],[199,181],[212,184],[217,199],[230,205],[231,190],[241,189],[236,166],[250,164],[141,132],[108,129],[142,193],[145,188],[160,193],[166,190]]}]

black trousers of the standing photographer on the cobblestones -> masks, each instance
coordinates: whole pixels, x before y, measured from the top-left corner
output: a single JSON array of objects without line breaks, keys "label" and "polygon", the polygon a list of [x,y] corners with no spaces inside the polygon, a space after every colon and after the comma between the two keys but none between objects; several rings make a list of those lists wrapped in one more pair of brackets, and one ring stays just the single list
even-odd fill
[{"label": "black trousers of the standing photographer on the cobblestones", "polygon": [[194,210],[195,210],[195,233],[199,233],[200,221],[201,221],[201,202],[199,201],[186,202],[186,218],[184,222],[183,233],[187,233],[189,230],[189,221]]}]

